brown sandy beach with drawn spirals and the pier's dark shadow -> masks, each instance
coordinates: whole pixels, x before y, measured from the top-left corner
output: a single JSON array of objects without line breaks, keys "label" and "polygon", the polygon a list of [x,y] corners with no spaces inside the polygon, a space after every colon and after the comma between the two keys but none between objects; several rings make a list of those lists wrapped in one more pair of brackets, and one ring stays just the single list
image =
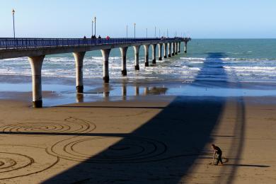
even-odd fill
[{"label": "brown sandy beach with drawn spirals and the pier's dark shadow", "polygon": [[29,106],[1,100],[0,183],[276,183],[275,98]]}]

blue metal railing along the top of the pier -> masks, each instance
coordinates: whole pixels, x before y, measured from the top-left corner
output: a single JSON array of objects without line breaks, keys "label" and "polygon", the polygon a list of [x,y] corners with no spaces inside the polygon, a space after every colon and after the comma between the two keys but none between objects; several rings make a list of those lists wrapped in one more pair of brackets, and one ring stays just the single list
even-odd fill
[{"label": "blue metal railing along the top of the pier", "polygon": [[81,45],[103,45],[127,42],[144,42],[156,40],[187,40],[190,38],[0,38],[1,49],[33,47],[68,47]]}]

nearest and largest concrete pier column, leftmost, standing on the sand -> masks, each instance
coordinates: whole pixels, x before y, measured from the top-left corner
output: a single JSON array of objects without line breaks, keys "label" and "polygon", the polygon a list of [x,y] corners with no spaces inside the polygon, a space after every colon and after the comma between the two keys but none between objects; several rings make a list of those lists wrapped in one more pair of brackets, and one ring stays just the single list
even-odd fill
[{"label": "nearest and largest concrete pier column, leftmost, standing on the sand", "polygon": [[44,57],[45,55],[28,57],[32,69],[34,108],[42,108],[41,69]]}]

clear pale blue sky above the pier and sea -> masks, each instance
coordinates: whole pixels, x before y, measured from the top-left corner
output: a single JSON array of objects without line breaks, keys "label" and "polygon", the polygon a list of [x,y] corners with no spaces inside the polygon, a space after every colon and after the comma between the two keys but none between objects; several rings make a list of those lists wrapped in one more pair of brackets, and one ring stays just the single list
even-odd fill
[{"label": "clear pale blue sky above the pier and sea", "polygon": [[79,38],[97,35],[137,37],[185,33],[192,38],[276,38],[275,0],[1,0],[0,37]]}]

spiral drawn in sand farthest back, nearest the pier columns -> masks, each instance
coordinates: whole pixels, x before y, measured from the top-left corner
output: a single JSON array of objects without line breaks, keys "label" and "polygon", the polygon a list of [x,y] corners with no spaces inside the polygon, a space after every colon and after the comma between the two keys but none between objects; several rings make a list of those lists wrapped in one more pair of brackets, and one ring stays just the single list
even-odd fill
[{"label": "spiral drawn in sand farthest back, nearest the pier columns", "polygon": [[[96,125],[87,120],[68,117],[59,120],[22,120],[20,123],[4,125],[0,131],[4,133],[24,134],[30,136],[54,133],[87,133],[96,129]],[[33,134],[32,134],[33,133]]]}]

